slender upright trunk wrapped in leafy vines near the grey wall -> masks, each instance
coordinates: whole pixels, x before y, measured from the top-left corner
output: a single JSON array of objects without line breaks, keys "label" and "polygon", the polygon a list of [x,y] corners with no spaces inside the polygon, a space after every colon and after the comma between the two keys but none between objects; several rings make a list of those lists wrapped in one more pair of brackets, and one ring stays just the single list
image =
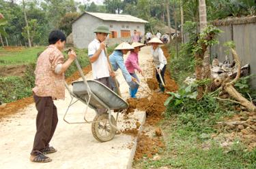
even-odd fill
[{"label": "slender upright trunk wrapped in leafy vines near the grey wall", "polygon": [[[205,26],[207,26],[207,14],[206,14],[206,4],[205,0],[199,0],[199,20],[200,20],[200,32],[202,33]],[[210,67],[210,50],[205,52],[203,57],[203,79],[211,77],[211,67]]]}]

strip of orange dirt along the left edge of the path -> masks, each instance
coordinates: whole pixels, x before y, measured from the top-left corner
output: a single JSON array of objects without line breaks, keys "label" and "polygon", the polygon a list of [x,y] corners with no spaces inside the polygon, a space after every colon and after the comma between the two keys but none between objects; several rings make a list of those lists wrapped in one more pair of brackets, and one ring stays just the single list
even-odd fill
[{"label": "strip of orange dirt along the left edge of the path", "polygon": [[[88,65],[83,69],[84,74],[89,73],[91,71],[91,65]],[[67,83],[71,83],[76,79],[79,79],[79,71],[76,71],[73,75],[66,79]],[[0,119],[2,117],[6,117],[7,115],[12,115],[18,112],[18,110],[23,109],[33,103],[33,96],[28,98],[22,98],[20,100],[16,100],[14,102],[9,102],[5,106],[0,107]]]}]

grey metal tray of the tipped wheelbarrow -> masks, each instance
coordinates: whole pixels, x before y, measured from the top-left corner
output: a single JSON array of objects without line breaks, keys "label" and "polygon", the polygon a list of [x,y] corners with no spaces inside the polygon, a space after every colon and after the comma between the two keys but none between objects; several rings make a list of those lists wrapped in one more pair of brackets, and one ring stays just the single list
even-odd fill
[{"label": "grey metal tray of the tipped wheelbarrow", "polygon": [[[110,109],[127,109],[129,107],[128,103],[119,97],[115,92],[110,90],[108,87],[104,86],[104,84],[95,81],[95,80],[87,80],[89,88],[91,88],[91,99],[89,101],[89,105],[100,109],[106,108],[104,107],[98,100],[95,98],[98,97],[104,104],[106,104]],[[72,83],[73,93],[78,96],[80,99],[88,100],[88,91],[87,86],[83,81],[74,81]],[[95,96],[94,96],[95,95]]]}]

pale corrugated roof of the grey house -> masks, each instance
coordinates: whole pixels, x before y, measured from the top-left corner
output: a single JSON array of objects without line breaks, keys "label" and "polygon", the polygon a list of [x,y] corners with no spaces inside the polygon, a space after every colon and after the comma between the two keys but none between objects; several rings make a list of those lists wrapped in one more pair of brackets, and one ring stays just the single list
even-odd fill
[{"label": "pale corrugated roof of the grey house", "polygon": [[[123,14],[105,14],[105,13],[97,13],[97,12],[85,12],[84,14],[89,14],[91,16],[95,16],[102,20],[114,20],[119,22],[139,22],[139,23],[148,23],[146,20],[142,20],[140,18],[131,16],[131,15],[123,15]],[[82,14],[81,16],[83,16]],[[81,17],[80,16],[80,17]],[[79,18],[80,18],[79,17]],[[77,18],[76,20],[78,20]]]}]

